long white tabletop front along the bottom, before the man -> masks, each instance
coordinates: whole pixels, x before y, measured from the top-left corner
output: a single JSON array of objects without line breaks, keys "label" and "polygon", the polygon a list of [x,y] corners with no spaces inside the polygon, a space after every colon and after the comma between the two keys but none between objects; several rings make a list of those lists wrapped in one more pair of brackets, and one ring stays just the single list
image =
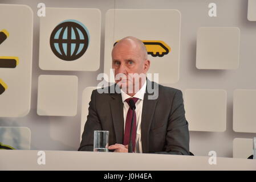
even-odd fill
[{"label": "long white tabletop front along the bottom, before the man", "polygon": [[128,154],[114,152],[44,151],[46,164],[38,164],[37,150],[0,150],[0,170],[256,170],[256,160],[210,156]]}]

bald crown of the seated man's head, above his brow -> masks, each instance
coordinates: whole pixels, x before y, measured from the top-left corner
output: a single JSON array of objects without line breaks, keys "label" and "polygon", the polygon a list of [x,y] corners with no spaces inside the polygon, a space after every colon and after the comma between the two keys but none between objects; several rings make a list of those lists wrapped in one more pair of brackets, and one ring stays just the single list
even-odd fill
[{"label": "bald crown of the seated man's head, above his brow", "polygon": [[136,49],[137,51],[139,51],[142,59],[144,60],[148,59],[147,48],[145,47],[145,44],[140,39],[137,39],[133,36],[127,36],[119,40],[119,42],[117,42],[113,47],[112,54],[115,51],[115,49],[117,49],[120,46],[127,46],[133,49]]}]

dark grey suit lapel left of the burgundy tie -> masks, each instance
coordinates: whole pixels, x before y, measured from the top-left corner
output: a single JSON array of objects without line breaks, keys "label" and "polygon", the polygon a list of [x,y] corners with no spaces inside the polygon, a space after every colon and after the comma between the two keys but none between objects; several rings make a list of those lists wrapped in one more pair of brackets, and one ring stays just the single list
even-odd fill
[{"label": "dark grey suit lapel left of the burgundy tie", "polygon": [[121,94],[111,94],[113,100],[110,101],[111,115],[113,119],[113,126],[116,134],[116,143],[123,143],[124,137],[124,110]]}]

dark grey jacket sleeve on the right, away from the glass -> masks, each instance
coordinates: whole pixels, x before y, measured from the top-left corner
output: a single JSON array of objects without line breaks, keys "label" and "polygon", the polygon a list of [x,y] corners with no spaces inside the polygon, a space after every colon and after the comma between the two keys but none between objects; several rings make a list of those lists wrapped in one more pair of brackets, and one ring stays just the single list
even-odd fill
[{"label": "dark grey jacket sleeve on the right, away from the glass", "polygon": [[189,155],[189,130],[181,90],[177,90],[173,97],[168,119],[165,151],[157,153]]}]

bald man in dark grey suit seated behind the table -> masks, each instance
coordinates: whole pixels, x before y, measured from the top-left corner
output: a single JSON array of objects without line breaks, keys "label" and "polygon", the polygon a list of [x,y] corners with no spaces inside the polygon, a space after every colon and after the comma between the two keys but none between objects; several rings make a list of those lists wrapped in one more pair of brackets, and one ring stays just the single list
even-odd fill
[{"label": "bald man in dark grey suit seated behind the table", "polygon": [[[116,84],[112,86],[120,88],[120,93],[116,90],[115,93],[92,92],[79,151],[92,151],[94,130],[107,130],[108,149],[128,152],[132,118],[129,100],[133,100],[136,106],[135,126],[132,129],[134,152],[189,155],[188,122],[182,92],[143,77],[139,81],[131,77],[132,73],[136,73],[145,78],[149,67],[147,49],[141,40],[126,37],[115,44],[112,68]],[[107,90],[111,90],[112,86]],[[139,89],[135,89],[136,86]],[[149,88],[157,90],[157,97],[149,97],[152,96]]]}]

